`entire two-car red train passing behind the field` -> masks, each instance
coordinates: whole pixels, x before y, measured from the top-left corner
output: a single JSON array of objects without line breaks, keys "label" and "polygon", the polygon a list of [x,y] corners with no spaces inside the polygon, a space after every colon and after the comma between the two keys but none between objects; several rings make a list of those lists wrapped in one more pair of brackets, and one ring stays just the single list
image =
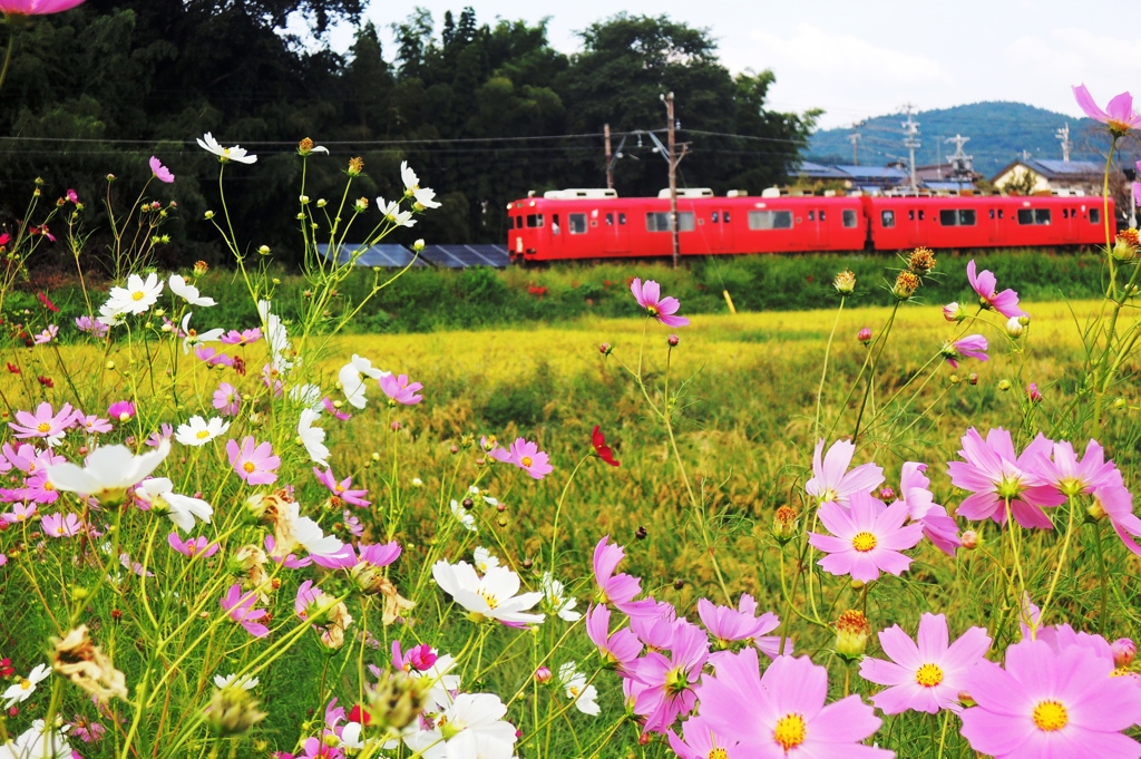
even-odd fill
[{"label": "entire two-car red train passing behind the field", "polygon": [[[508,207],[517,261],[670,256],[670,200],[566,189]],[[1114,219],[1114,204],[1109,203]],[[1106,242],[1093,196],[678,197],[682,256],[792,251],[1093,245]]]}]

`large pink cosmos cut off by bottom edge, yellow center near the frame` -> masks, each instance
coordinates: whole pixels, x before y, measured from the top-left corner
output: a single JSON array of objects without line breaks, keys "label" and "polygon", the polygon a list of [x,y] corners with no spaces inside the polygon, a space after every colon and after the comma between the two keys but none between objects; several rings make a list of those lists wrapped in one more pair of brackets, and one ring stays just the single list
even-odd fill
[{"label": "large pink cosmos cut off by bottom edge, yellow center near the frame", "polygon": [[718,661],[699,691],[701,717],[725,743],[739,742],[750,759],[889,759],[885,749],[863,745],[882,721],[859,696],[825,705],[828,671],[807,656],[778,656],[763,677],[756,651]]}]

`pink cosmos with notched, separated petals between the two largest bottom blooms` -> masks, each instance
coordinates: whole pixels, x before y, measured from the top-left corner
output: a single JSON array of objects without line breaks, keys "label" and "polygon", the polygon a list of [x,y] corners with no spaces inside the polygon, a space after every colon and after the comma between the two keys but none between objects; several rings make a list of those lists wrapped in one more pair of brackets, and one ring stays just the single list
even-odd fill
[{"label": "pink cosmos with notched, separated petals between the two largest bottom blooms", "polygon": [[889,686],[872,696],[872,703],[887,714],[960,711],[964,678],[986,656],[990,636],[984,628],[971,628],[955,643],[947,645],[947,617],[942,614],[923,614],[916,640],[898,624],[881,631],[880,645],[891,661],[866,657],[859,665],[861,678]]}]

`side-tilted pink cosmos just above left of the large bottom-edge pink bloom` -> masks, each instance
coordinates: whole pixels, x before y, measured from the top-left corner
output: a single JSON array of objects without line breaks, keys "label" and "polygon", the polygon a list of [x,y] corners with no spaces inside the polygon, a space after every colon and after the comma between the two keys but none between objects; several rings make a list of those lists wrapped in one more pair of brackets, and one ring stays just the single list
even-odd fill
[{"label": "side-tilted pink cosmos just above left of the large bottom-edge pink bloom", "polygon": [[679,620],[669,656],[650,651],[634,662],[632,677],[646,686],[634,700],[634,713],[646,718],[647,732],[664,733],[679,714],[693,711],[697,702],[695,686],[709,653],[705,632]]}]

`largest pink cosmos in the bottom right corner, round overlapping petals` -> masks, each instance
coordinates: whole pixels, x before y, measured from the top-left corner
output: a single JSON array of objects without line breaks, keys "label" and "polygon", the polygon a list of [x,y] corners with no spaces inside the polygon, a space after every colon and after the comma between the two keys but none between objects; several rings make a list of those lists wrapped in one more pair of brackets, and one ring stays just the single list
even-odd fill
[{"label": "largest pink cosmos in the bottom right corner, round overlapping petals", "polygon": [[995,759],[1141,757],[1141,744],[1122,735],[1141,719],[1141,688],[1112,671],[1112,660],[1084,646],[1017,643],[1005,669],[984,661],[966,673],[978,705],[963,712],[962,733]]}]

